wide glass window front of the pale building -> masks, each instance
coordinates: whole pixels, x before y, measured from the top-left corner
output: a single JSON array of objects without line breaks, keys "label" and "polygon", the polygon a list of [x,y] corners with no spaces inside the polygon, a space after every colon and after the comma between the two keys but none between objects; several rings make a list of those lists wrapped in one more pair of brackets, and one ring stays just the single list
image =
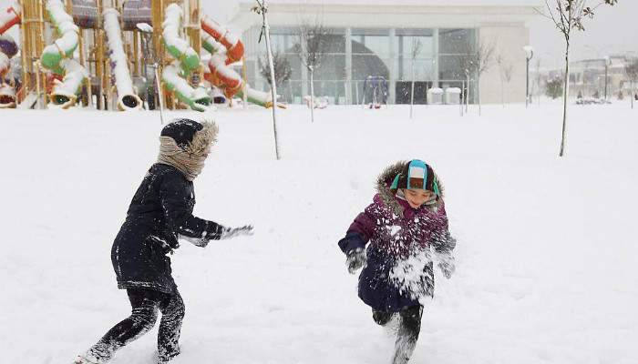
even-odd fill
[{"label": "wide glass window front of the pale building", "polygon": [[[253,28],[251,34],[258,36],[259,31],[258,27]],[[285,54],[293,68],[291,79],[280,86],[280,93],[288,102],[301,102],[302,97],[310,92],[309,82],[304,80],[304,65],[294,52],[294,45],[299,41],[298,33],[297,27],[273,27],[271,31],[273,50]],[[396,80],[396,90],[392,92],[396,93],[396,102],[399,102],[399,88],[403,87],[401,90],[405,91],[404,88],[410,86],[414,66],[416,102],[425,102],[429,87],[461,87],[466,82],[460,67],[461,58],[476,52],[477,35],[476,29],[401,28],[390,37],[388,28],[353,28],[352,68],[348,70],[345,28],[331,29],[326,54],[314,73],[315,94],[328,96],[334,103],[340,103],[342,99],[355,102],[362,98],[361,87],[368,76],[383,76],[388,81],[391,78]],[[417,44],[420,51],[413,59],[412,51]],[[264,42],[257,44],[255,38],[252,45],[252,49],[248,48],[252,53],[247,52],[247,55],[265,59]],[[251,68],[256,70],[254,66]],[[352,76],[352,84],[346,83],[348,74]],[[254,76],[254,72],[251,75],[249,71],[249,79]],[[267,89],[268,84],[262,76],[256,76],[260,81],[259,88]],[[477,82],[475,77],[470,78],[470,93],[473,95]]]}]

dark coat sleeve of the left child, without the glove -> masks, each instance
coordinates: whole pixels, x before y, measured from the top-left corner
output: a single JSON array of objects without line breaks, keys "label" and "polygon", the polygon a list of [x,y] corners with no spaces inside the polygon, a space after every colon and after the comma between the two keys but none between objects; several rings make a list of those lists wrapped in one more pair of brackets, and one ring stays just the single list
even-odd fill
[{"label": "dark coat sleeve of the left child, without the glove", "polygon": [[164,217],[175,233],[200,239],[201,244],[195,244],[198,246],[205,246],[208,240],[220,239],[221,225],[192,215],[195,198],[192,197],[192,184],[185,178],[178,174],[165,175],[160,185],[160,198]]}]

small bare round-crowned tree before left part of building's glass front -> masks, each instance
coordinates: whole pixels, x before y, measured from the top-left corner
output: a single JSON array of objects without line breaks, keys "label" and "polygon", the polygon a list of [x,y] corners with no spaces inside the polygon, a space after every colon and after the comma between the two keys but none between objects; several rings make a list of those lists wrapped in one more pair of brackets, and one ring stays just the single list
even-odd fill
[{"label": "small bare round-crowned tree before left part of building's glass front", "polygon": [[332,32],[324,26],[323,20],[316,17],[314,24],[303,22],[299,26],[298,42],[294,52],[310,73],[310,120],[314,122],[314,71],[316,71],[327,53]]}]

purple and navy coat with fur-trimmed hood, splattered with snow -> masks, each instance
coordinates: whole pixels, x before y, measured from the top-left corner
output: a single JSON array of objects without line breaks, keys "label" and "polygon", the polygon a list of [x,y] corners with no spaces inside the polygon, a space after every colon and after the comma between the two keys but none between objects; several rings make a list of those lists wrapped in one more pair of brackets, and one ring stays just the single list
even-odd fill
[{"label": "purple and navy coat with fur-trimmed hood, splattered with snow", "polygon": [[423,305],[434,293],[431,250],[450,253],[443,198],[417,209],[396,197],[390,185],[407,162],[399,162],[378,177],[373,203],[355,218],[339,247],[347,254],[365,248],[367,265],[359,276],[359,297],[368,306],[397,312]]}]

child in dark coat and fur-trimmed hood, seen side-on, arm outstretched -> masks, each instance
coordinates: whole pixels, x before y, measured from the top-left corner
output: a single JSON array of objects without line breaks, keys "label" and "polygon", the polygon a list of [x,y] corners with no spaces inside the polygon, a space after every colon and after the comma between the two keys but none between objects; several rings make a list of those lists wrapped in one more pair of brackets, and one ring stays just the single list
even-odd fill
[{"label": "child in dark coat and fur-trimmed hood, seen side-on, arm outstretched", "polygon": [[184,302],[171,276],[168,255],[180,247],[179,239],[203,248],[210,240],[252,235],[251,226],[223,227],[192,215],[192,180],[201,173],[217,132],[212,122],[189,119],[175,120],[162,129],[158,162],[142,180],[111,249],[118,288],[127,290],[132,313],[78,356],[75,364],[107,362],[117,349],[152,329],[159,312],[158,362],[180,353]]}]

